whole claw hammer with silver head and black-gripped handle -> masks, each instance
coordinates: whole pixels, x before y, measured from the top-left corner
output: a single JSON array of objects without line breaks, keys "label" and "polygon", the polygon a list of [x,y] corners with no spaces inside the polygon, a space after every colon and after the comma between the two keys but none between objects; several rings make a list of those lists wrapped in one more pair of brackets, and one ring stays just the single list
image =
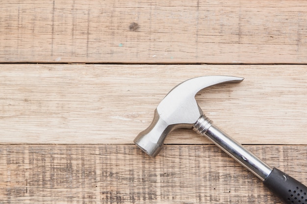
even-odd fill
[{"label": "whole claw hammer with silver head and black-gripped handle", "polygon": [[201,76],[173,88],[154,111],[150,126],[134,143],[151,157],[162,149],[166,136],[175,129],[189,128],[206,136],[224,152],[255,174],[284,204],[307,204],[307,187],[277,168],[272,168],[217,128],[195,100],[202,89],[222,83],[239,83],[234,76]]}]

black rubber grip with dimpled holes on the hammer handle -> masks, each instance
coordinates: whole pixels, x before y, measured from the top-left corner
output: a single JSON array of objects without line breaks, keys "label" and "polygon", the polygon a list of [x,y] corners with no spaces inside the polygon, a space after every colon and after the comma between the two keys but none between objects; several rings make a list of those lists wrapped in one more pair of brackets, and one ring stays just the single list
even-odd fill
[{"label": "black rubber grip with dimpled holes on the hammer handle", "polygon": [[284,204],[307,204],[307,187],[276,168],[263,183]]}]

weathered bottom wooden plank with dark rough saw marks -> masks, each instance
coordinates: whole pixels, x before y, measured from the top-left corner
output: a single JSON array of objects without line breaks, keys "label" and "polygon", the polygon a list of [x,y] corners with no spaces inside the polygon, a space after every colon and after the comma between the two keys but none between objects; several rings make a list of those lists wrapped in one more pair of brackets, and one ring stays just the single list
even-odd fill
[{"label": "weathered bottom wooden plank with dark rough saw marks", "polygon": [[[307,183],[307,146],[247,146]],[[0,204],[280,204],[214,145],[0,145]]]}]

